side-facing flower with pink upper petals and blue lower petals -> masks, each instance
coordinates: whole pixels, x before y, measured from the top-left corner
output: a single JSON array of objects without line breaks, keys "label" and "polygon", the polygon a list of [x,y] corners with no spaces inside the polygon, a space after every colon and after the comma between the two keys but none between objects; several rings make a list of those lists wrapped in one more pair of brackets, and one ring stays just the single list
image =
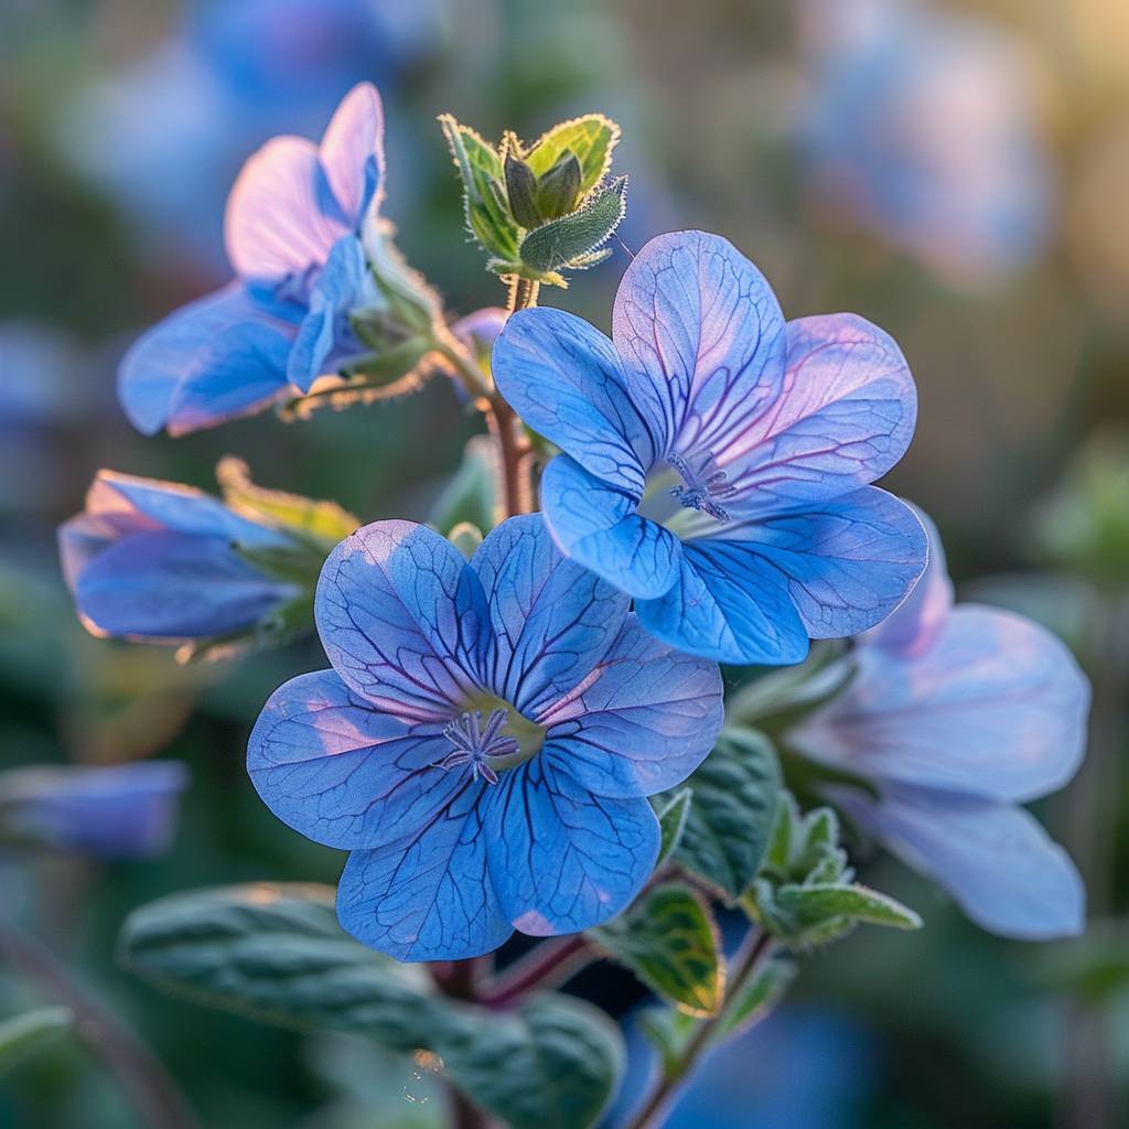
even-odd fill
[{"label": "side-facing flower with pink upper petals and blue lower petals", "polygon": [[225,218],[236,280],[141,336],[122,361],[130,421],[183,435],[308,392],[365,352],[351,310],[378,301],[359,235],[379,205],[384,117],[375,87],[345,96],[321,146],[269,141]]}]

